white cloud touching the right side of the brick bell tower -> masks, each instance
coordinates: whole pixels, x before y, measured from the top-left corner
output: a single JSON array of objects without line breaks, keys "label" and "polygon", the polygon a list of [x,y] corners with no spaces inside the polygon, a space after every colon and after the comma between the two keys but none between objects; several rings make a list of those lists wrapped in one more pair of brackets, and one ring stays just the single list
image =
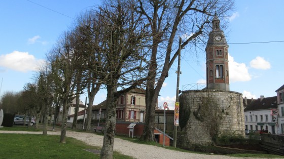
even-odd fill
[{"label": "white cloud touching the right side of the brick bell tower", "polygon": [[234,58],[229,54],[229,76],[231,82],[244,82],[252,79],[248,73],[248,68],[244,63],[237,63]]}]

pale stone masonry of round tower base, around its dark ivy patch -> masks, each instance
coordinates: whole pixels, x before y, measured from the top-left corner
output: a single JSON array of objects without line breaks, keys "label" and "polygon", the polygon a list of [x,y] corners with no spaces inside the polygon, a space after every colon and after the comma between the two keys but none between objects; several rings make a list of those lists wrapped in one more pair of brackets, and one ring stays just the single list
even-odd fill
[{"label": "pale stone masonry of round tower base, around its dark ivy patch", "polygon": [[[222,115],[222,124],[219,129],[221,134],[244,136],[244,114],[242,94],[232,91],[222,90],[191,90],[183,91],[179,97],[180,111],[189,109],[190,116],[186,126],[182,129],[186,139],[184,142],[187,145],[200,144],[209,145],[212,139],[209,133],[200,125],[200,121],[196,119],[193,112],[197,111],[201,99],[206,97],[214,98],[220,107]],[[210,109],[208,109],[210,111]],[[182,119],[180,118],[180,121]],[[185,143],[181,143],[185,145]]]}]

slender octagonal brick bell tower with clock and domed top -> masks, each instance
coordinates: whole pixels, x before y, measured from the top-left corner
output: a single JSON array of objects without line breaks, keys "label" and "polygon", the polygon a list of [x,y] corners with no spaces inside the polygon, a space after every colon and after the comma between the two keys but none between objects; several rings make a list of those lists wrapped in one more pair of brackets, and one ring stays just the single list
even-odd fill
[{"label": "slender octagonal brick bell tower with clock and domed top", "polygon": [[206,84],[210,90],[230,91],[227,41],[215,15],[206,46]]}]

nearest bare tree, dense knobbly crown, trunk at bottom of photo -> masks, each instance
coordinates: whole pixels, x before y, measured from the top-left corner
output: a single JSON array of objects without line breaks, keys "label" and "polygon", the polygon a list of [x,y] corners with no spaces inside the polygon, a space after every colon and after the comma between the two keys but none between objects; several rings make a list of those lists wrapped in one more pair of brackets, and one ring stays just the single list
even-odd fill
[{"label": "nearest bare tree, dense knobbly crown, trunk at bottom of photo", "polygon": [[[118,88],[125,91],[143,83],[142,72],[146,69],[143,62],[144,43],[147,28],[134,11],[133,1],[105,2],[98,8],[99,19],[96,33],[98,43],[92,63],[97,80],[107,87],[107,116],[103,137],[101,158],[113,157],[114,135],[116,125],[116,101]],[[123,93],[123,92],[120,92]]]}]

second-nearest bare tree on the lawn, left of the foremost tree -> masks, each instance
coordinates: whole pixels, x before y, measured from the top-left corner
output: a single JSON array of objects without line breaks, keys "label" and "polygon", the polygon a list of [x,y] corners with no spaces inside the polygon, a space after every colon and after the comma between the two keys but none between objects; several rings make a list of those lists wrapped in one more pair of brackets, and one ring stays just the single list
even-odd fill
[{"label": "second-nearest bare tree on the lawn, left of the foremost tree", "polygon": [[79,55],[71,43],[72,35],[72,32],[65,32],[58,45],[50,51],[47,57],[52,69],[53,92],[60,94],[63,105],[61,143],[65,143],[67,112],[77,92],[76,74],[78,69],[76,62]]}]

